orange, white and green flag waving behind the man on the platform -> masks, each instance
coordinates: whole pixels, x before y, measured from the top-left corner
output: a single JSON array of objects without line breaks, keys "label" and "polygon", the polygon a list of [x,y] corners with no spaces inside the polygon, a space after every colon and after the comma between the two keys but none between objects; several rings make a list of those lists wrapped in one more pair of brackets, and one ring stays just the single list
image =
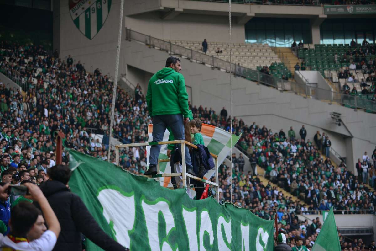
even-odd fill
[{"label": "orange, white and green flag waving behind the man on the platform", "polygon": [[[153,125],[149,125],[148,128],[148,134],[149,134],[149,140],[148,142],[153,140]],[[227,155],[230,153],[231,150],[231,140],[230,136],[232,136],[232,147],[235,146],[235,144],[240,139],[240,136],[230,134],[230,132],[227,132],[221,128],[208,125],[208,124],[202,124],[201,128],[201,135],[204,140],[204,145],[209,149],[210,152],[218,156],[218,166],[222,164],[224,159],[227,157]],[[163,141],[168,141],[168,136],[170,133],[168,130],[165,131],[165,134],[163,136]],[[146,147],[146,161],[147,166],[149,166],[149,155],[150,155],[150,147]],[[159,159],[167,159],[167,145],[161,146],[161,152],[159,154]],[[159,164],[161,173],[172,173],[171,172],[171,166],[170,162],[162,162]],[[209,170],[208,173],[204,176],[205,179],[209,179],[214,174],[214,170]],[[164,187],[170,187],[172,184],[170,183],[171,177],[162,177],[160,178],[161,186]]]}]

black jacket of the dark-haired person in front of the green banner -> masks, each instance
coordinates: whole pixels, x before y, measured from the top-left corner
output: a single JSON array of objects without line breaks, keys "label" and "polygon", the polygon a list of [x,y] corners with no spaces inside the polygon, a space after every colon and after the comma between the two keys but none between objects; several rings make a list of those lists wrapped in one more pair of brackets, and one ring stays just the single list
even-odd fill
[{"label": "black jacket of the dark-haired person in front of the green banner", "polygon": [[81,198],[69,192],[63,183],[46,181],[41,184],[40,188],[61,226],[61,232],[53,251],[81,251],[80,233],[102,249],[126,250],[100,228]]}]

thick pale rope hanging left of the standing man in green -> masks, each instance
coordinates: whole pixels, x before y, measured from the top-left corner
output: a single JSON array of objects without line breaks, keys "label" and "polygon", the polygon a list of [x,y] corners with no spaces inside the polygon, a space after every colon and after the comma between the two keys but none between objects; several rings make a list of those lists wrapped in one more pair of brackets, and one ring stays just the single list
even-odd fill
[{"label": "thick pale rope hanging left of the standing man in green", "polygon": [[116,51],[116,63],[115,63],[115,76],[114,76],[114,92],[112,94],[112,107],[111,107],[111,124],[110,124],[110,135],[109,135],[109,144],[108,144],[108,154],[107,161],[110,162],[111,156],[111,145],[112,145],[112,126],[114,126],[114,113],[115,113],[115,100],[116,100],[116,89],[119,73],[119,58],[120,58],[120,44],[121,44],[121,29],[123,27],[123,9],[124,9],[124,0],[120,1],[120,20],[119,20],[119,35],[118,35],[118,44]]}]

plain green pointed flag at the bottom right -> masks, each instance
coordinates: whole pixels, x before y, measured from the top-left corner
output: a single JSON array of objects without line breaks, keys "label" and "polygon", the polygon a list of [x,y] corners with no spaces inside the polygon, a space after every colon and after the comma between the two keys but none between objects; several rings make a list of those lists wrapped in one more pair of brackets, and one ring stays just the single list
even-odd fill
[{"label": "plain green pointed flag at the bottom right", "polygon": [[327,213],[321,231],[317,236],[312,251],[341,251],[340,239],[338,238],[337,226],[335,225],[333,207]]}]

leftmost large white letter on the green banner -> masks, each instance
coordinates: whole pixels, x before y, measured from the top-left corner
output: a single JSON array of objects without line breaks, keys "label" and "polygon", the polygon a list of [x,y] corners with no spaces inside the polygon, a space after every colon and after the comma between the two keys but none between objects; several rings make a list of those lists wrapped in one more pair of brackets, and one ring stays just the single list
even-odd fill
[{"label": "leftmost large white letter on the green banner", "polygon": [[[102,204],[103,216],[107,223],[112,225],[111,230],[117,242],[123,246],[129,246],[128,231],[132,230],[135,224],[135,196],[127,196],[115,189],[103,189],[97,198]],[[121,216],[119,212],[127,212],[127,217]]]}]

